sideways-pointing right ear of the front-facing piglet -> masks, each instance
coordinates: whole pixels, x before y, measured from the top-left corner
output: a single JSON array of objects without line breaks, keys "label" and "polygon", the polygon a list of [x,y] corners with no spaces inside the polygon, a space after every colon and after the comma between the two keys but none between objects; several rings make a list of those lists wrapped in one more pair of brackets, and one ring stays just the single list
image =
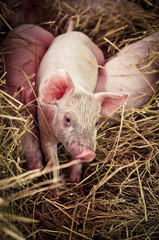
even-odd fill
[{"label": "sideways-pointing right ear of the front-facing piglet", "polygon": [[114,93],[101,92],[96,93],[95,98],[101,103],[101,114],[110,115],[126,103],[128,94],[121,96]]}]

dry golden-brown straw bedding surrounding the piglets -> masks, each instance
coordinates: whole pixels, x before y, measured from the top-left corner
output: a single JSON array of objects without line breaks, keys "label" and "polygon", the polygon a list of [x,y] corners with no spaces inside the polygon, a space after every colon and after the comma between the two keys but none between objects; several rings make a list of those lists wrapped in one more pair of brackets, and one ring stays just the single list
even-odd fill
[{"label": "dry golden-brown straw bedding surrounding the piglets", "polygon": [[[84,1],[42,1],[44,26],[55,36],[72,17],[76,30],[90,36],[111,56],[127,43],[159,29],[157,1],[103,1],[91,9]],[[76,4],[78,8],[76,9]],[[1,5],[2,6],[2,5]],[[3,12],[2,12],[3,13]],[[2,19],[2,18],[1,18]],[[1,36],[3,31],[1,31]],[[104,38],[109,39],[108,44]],[[0,85],[5,84],[1,56]],[[4,67],[2,67],[4,66]],[[31,116],[0,90],[0,236],[1,239],[158,239],[159,236],[159,95],[141,110],[101,122],[96,159],[84,166],[74,188],[60,183],[53,198],[52,180],[38,170],[26,172],[20,138]],[[13,114],[14,112],[14,114]],[[13,120],[21,126],[16,128]],[[61,166],[68,154],[59,147]],[[64,165],[65,166],[65,165]]]}]

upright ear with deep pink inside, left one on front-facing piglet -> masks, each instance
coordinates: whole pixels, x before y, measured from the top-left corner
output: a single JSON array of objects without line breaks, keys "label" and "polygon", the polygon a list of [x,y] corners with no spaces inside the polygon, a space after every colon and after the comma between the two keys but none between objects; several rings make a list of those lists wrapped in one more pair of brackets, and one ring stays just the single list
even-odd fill
[{"label": "upright ear with deep pink inside, left one on front-facing piglet", "polygon": [[40,102],[44,104],[55,104],[66,93],[74,90],[73,82],[64,69],[59,69],[40,86]]}]

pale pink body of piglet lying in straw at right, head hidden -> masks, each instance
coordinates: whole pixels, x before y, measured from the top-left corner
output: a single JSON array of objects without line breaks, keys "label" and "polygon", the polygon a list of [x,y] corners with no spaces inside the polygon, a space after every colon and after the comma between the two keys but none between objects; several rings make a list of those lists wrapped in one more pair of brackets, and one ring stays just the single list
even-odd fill
[{"label": "pale pink body of piglet lying in straw at right, head hidden", "polygon": [[[152,95],[159,89],[157,81],[159,70],[154,63],[145,67],[147,62],[143,61],[148,53],[157,51],[154,42],[159,41],[159,32],[143,38],[135,43],[121,49],[114,57],[110,58],[100,69],[95,93],[106,91],[115,94],[127,93],[129,98],[126,108],[141,108]],[[137,65],[138,64],[138,65]]]}]

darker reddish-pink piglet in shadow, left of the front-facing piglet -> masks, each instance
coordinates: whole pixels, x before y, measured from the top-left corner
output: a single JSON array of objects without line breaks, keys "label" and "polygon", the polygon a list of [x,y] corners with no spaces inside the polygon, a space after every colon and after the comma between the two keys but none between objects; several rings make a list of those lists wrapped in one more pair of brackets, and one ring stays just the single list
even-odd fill
[{"label": "darker reddish-pink piglet in shadow, left of the front-facing piglet", "polygon": [[[36,91],[36,74],[39,63],[52,41],[51,33],[31,24],[16,27],[3,41],[7,71],[5,89],[8,94],[16,96],[19,101],[27,105],[34,119],[37,118],[33,93],[33,90]],[[22,138],[22,148],[29,170],[43,168],[39,132],[35,123],[32,125],[32,132],[36,137],[26,133]]]}]

